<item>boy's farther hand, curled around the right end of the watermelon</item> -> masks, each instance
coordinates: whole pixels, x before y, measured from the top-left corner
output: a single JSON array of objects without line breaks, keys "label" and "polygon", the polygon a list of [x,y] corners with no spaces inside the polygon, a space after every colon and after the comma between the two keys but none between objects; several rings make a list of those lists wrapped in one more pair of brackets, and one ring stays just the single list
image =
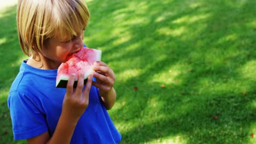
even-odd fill
[{"label": "boy's farther hand, curled around the right end of the watermelon", "polygon": [[[115,82],[115,75],[112,69],[106,63],[97,61],[94,63],[92,74],[96,78],[96,82],[92,81],[92,85],[99,88],[100,91],[108,93],[112,91]],[[103,96],[103,95],[101,95]]]}]

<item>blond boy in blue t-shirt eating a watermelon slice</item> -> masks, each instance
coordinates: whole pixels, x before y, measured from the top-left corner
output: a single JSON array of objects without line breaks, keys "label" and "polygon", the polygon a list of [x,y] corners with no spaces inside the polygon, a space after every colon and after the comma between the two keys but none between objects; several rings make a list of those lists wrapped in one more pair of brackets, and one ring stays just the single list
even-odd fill
[{"label": "blond boy in blue t-shirt eating a watermelon slice", "polygon": [[[11,85],[8,106],[14,139],[28,143],[118,143],[121,135],[107,110],[115,103],[115,76],[96,62],[84,87],[72,75],[66,89],[55,88],[57,68],[84,45],[89,10],[83,0],[20,0],[17,27],[22,62]],[[94,77],[94,78],[92,78]],[[94,79],[94,80],[92,80]]]}]

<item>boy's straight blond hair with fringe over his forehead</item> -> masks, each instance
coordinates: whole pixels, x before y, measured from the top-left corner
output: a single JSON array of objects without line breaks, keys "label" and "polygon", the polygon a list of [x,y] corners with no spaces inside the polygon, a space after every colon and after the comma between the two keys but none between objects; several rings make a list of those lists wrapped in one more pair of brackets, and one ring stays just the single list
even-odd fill
[{"label": "boy's straight blond hair with fringe over his forehead", "polygon": [[19,0],[16,21],[21,49],[37,57],[47,39],[56,33],[71,39],[89,18],[84,0]]}]

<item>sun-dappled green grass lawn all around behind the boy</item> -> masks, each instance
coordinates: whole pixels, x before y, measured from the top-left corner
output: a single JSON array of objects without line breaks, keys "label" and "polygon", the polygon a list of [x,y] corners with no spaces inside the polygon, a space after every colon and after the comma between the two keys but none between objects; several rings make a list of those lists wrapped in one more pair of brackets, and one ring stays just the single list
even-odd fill
[{"label": "sun-dappled green grass lawn all around behind the boy", "polygon": [[[121,143],[256,143],[256,1],[87,2],[84,41],[115,71]],[[0,21],[0,141],[18,143],[6,103],[26,58],[15,6]]]}]

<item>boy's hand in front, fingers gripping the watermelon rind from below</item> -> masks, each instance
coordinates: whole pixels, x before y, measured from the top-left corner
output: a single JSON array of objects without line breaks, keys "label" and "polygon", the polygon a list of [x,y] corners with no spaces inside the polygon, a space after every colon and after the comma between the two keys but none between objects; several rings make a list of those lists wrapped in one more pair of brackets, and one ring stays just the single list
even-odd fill
[{"label": "boy's hand in front, fingers gripping the watermelon rind from below", "polygon": [[79,74],[77,88],[73,88],[75,76],[71,75],[68,79],[66,95],[62,104],[62,115],[77,122],[89,105],[89,92],[91,89],[92,75],[84,87],[84,74]]}]

